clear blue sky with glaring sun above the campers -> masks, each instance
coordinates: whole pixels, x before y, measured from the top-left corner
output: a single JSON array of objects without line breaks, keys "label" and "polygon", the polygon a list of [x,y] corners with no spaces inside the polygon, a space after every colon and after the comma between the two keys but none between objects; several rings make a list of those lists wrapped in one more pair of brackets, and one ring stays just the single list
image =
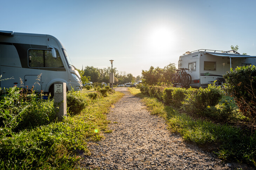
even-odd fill
[{"label": "clear blue sky with glaring sun above the campers", "polygon": [[253,0],[0,0],[0,30],[49,34],[73,65],[141,75],[198,49],[256,56]]}]

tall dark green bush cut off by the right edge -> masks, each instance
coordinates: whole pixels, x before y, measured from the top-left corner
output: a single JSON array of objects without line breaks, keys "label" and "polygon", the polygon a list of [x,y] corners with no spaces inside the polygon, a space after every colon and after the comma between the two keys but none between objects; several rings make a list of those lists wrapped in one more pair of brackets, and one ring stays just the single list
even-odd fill
[{"label": "tall dark green bush cut off by the right edge", "polygon": [[223,75],[224,90],[237,102],[244,116],[256,118],[256,67],[237,67]]}]

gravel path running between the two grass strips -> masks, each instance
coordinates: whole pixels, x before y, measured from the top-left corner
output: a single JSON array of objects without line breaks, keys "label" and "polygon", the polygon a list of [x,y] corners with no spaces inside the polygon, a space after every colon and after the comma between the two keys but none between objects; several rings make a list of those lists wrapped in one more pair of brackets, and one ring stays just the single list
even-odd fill
[{"label": "gravel path running between the two grass strips", "polygon": [[111,121],[105,139],[90,142],[90,156],[84,156],[80,167],[102,170],[176,170],[176,169],[251,169],[237,163],[222,163],[214,155],[167,130],[163,118],[150,115],[141,99],[128,88],[115,88],[124,93],[107,114]]}]

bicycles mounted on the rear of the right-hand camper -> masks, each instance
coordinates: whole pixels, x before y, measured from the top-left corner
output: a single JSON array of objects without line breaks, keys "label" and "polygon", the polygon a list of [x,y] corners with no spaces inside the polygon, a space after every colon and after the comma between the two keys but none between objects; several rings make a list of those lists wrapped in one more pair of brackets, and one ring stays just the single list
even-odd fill
[{"label": "bicycles mounted on the rear of the right-hand camper", "polygon": [[186,73],[187,68],[174,69],[175,73],[171,75],[171,83],[188,86],[191,83],[191,75]]}]

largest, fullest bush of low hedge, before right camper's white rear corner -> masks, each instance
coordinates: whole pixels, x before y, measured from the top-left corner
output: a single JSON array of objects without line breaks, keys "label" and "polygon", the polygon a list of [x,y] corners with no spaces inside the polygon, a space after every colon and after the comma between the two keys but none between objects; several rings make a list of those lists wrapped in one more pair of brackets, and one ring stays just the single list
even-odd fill
[{"label": "largest, fullest bush of low hedge, before right camper's white rear corner", "polygon": [[220,87],[209,84],[208,88],[193,89],[189,88],[187,91],[187,97],[185,98],[183,108],[187,112],[197,113],[204,115],[204,111],[208,106],[215,106],[223,96],[223,91]]}]

